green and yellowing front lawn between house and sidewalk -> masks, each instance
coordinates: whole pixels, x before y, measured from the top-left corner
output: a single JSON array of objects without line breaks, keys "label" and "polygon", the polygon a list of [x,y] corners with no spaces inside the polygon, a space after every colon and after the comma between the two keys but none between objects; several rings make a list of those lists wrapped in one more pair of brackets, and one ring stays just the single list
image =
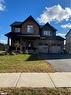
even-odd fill
[{"label": "green and yellowing front lawn between house and sidewalk", "polygon": [[0,56],[0,73],[4,72],[54,72],[54,69],[39,55],[19,54]]}]

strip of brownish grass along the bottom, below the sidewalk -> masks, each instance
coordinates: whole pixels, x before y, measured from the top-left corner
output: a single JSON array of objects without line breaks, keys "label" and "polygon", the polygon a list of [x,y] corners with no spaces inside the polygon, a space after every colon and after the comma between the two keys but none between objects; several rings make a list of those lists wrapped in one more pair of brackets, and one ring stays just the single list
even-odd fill
[{"label": "strip of brownish grass along the bottom, below the sidewalk", "polygon": [[2,88],[5,95],[71,95],[68,88]]}]

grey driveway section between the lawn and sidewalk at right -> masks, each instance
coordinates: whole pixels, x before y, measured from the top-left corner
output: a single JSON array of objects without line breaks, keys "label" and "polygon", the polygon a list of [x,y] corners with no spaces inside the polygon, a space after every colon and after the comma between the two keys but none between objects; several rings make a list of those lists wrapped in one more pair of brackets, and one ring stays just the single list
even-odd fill
[{"label": "grey driveway section between the lawn and sidewalk at right", "polygon": [[71,59],[48,59],[57,72],[71,72]]}]

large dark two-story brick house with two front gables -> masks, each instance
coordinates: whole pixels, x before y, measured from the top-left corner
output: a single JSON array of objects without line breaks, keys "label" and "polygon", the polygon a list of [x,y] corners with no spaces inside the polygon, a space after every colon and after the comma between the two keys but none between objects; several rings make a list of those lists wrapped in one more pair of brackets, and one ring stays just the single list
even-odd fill
[{"label": "large dark two-story brick house with two front gables", "polygon": [[64,49],[64,38],[56,36],[56,29],[49,23],[39,25],[32,16],[24,22],[14,22],[8,37],[12,50],[20,52],[61,53]]}]

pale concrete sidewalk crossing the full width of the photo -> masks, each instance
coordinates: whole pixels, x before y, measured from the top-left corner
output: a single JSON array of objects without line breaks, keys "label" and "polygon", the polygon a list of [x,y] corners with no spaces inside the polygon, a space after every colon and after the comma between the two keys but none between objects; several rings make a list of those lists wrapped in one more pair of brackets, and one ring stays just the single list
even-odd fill
[{"label": "pale concrete sidewalk crossing the full width of the photo", "polygon": [[0,73],[0,87],[71,87],[71,73]]}]

